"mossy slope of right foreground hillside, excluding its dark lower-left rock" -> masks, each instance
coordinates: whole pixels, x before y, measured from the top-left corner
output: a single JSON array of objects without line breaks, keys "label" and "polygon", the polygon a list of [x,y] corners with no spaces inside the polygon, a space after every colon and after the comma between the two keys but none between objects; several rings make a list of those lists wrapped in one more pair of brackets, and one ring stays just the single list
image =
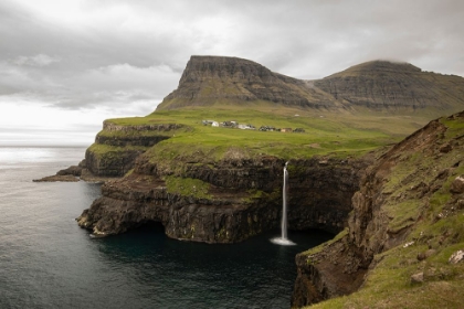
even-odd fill
[{"label": "mossy slope of right foreground hillside, excluding its dark lower-left rock", "polygon": [[[461,113],[432,121],[379,160],[360,191],[371,202],[355,205],[338,239],[375,253],[366,281],[350,296],[310,308],[462,308],[464,263],[449,259],[464,249],[464,192],[451,190],[464,174],[463,153]],[[329,246],[304,255],[313,260]],[[418,273],[423,283],[411,283]]]}]

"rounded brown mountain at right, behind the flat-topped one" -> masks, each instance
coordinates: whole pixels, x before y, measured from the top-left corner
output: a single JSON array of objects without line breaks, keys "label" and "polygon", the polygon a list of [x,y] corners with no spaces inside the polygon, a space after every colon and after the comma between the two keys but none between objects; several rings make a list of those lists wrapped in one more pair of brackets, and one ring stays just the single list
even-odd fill
[{"label": "rounded brown mountain at right, behind the flat-topped one", "polygon": [[371,109],[430,108],[458,110],[464,106],[464,78],[423,72],[409,63],[373,61],[314,82],[335,100]]}]

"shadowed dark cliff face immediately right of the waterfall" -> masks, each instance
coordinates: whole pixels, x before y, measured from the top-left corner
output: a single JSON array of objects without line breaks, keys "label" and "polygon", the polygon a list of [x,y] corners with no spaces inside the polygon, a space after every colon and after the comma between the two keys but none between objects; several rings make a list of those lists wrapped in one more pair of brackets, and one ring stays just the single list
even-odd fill
[{"label": "shadowed dark cliff face immediately right of the waterfall", "polygon": [[289,166],[288,223],[293,228],[338,233],[346,226],[351,198],[372,156],[362,160],[313,158]]}]

